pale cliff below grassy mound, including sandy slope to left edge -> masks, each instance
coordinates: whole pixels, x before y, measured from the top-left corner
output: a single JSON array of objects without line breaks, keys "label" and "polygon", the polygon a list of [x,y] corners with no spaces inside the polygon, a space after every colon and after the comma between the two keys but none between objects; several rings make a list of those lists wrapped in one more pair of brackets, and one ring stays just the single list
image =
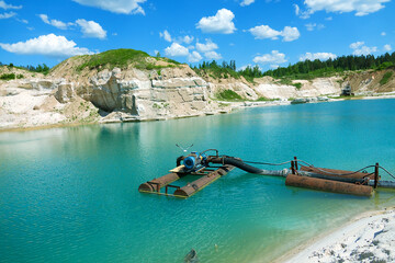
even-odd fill
[{"label": "pale cliff below grassy mound, including sandy slope to left edge", "polygon": [[76,76],[78,81],[64,69],[41,79],[1,81],[0,115],[7,118],[0,126],[165,119],[224,111],[210,99],[208,83],[188,66],[93,70]]}]

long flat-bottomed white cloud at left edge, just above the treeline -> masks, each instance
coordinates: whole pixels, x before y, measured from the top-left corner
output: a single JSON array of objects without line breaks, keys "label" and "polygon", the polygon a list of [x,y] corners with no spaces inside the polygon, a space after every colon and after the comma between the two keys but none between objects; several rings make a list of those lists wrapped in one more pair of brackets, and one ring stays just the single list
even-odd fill
[{"label": "long flat-bottomed white cloud at left edge, just above the treeline", "polygon": [[55,34],[42,35],[26,42],[14,44],[0,43],[0,47],[7,52],[20,55],[45,55],[50,57],[70,57],[77,55],[93,54],[88,48],[77,47],[74,41]]}]

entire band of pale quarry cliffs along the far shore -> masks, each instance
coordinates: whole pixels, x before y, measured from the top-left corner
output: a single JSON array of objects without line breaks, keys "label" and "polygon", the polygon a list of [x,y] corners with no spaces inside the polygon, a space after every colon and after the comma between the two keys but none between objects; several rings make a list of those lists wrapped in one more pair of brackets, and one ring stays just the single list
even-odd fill
[{"label": "entire band of pale quarry cliffs along the far shore", "polygon": [[79,59],[66,60],[47,77],[0,81],[0,128],[166,119],[229,112],[235,105],[215,100],[224,90],[233,90],[249,101],[267,98],[284,102],[290,98],[338,95],[345,83],[350,83],[354,92],[395,90],[394,78],[385,85],[380,84],[385,72],[364,72],[346,79],[295,80],[287,85],[269,77],[256,79],[253,83],[244,78],[203,79],[187,65],[167,67],[165,64],[151,70],[132,66],[77,70]]}]

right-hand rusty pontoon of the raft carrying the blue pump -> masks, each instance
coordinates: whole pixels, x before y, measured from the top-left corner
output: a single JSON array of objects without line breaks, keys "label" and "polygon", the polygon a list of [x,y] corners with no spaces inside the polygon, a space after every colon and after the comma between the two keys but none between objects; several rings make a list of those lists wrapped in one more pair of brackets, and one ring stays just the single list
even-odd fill
[{"label": "right-hand rusty pontoon of the raft carrying the blue pump", "polygon": [[179,190],[176,190],[174,196],[190,197],[191,195],[194,195],[196,192],[201,191],[208,184],[213,183],[215,180],[227,174],[233,169],[235,169],[235,167],[233,165],[223,165],[217,170],[211,172],[210,174],[204,175]]}]

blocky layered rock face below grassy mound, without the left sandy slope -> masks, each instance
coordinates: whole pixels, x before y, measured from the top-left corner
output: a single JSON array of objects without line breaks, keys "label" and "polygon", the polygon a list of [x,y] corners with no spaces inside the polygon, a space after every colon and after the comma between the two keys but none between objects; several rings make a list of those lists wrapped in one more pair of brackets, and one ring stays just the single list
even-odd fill
[{"label": "blocky layered rock face below grassy mound, without the left sandy slope", "polygon": [[[132,71],[132,72],[129,72]],[[188,67],[144,72],[138,69],[103,70],[88,84],[69,84],[66,98],[80,96],[104,112],[122,112],[128,118],[184,117],[217,110],[211,103],[208,83]]]}]

